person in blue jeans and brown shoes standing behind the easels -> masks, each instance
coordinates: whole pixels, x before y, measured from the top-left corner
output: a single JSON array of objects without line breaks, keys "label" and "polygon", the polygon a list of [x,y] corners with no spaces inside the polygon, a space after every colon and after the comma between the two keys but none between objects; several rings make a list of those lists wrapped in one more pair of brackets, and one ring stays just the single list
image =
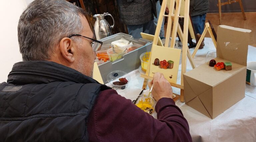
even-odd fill
[{"label": "person in blue jeans and brown shoes standing behind the easels", "polygon": [[[190,0],[189,13],[196,33],[196,44],[198,43],[205,24],[206,13],[208,12],[208,0]],[[199,49],[204,48],[204,40]]]}]

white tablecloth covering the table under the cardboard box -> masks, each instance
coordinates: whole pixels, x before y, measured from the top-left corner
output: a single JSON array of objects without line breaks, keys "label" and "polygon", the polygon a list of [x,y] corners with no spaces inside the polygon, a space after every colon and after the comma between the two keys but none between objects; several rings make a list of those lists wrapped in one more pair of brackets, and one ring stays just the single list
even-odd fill
[{"label": "white tablecloth covering the table under the cardboard box", "polygon": [[[210,50],[216,50],[210,38],[205,38],[205,47],[199,49],[194,57],[197,66],[205,63],[206,54]],[[190,49],[191,54],[194,48]],[[256,61],[256,48],[249,46],[247,61]],[[187,71],[192,67],[187,59]],[[181,65],[178,78],[180,78]],[[117,92],[132,99],[139,95],[142,90],[144,78],[140,77],[139,70],[129,73],[131,81],[124,90]],[[180,79],[177,81],[180,83]],[[144,91],[147,94],[149,90]],[[180,94],[180,89],[173,87],[173,92]],[[232,96],[231,96],[232,97]],[[256,141],[256,87],[246,84],[245,98],[224,111],[214,119],[210,119],[185,103],[177,102],[176,105],[182,110],[190,127],[193,141],[200,142],[255,142]],[[156,113],[153,113],[156,118]]]}]

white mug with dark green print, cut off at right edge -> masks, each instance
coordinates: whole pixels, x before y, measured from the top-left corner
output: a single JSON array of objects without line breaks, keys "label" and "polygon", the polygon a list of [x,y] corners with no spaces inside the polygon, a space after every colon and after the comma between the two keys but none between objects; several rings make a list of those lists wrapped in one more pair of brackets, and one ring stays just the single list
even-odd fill
[{"label": "white mug with dark green print, cut off at right edge", "polygon": [[247,62],[246,84],[256,86],[256,61]]}]

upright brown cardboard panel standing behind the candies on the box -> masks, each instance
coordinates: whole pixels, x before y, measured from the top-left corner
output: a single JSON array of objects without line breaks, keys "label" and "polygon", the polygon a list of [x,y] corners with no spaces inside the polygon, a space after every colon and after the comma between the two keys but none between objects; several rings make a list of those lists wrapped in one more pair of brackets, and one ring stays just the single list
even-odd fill
[{"label": "upright brown cardboard panel standing behind the candies on the box", "polygon": [[250,32],[226,25],[218,26],[217,57],[246,66]]}]

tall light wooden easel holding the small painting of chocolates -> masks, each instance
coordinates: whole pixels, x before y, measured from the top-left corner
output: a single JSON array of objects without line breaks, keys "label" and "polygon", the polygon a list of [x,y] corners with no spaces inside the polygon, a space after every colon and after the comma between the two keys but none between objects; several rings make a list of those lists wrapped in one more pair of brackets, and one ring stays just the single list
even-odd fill
[{"label": "tall light wooden easel holding the small painting of chocolates", "polygon": [[[184,0],[183,0],[184,1]],[[176,8],[174,9],[174,5],[176,2]],[[155,32],[155,37],[152,43],[152,46],[157,45],[157,39],[159,37],[161,25],[163,22],[163,17],[168,16],[168,24],[167,24],[167,33],[166,33],[166,39],[165,39],[165,45],[164,47],[168,47],[169,41],[170,41],[170,36],[171,36],[171,27],[173,23],[173,29],[172,29],[172,40],[171,40],[171,48],[174,48],[175,46],[175,39],[177,36],[177,32],[181,38],[182,41],[182,63],[181,63],[181,85],[176,84],[176,83],[171,83],[170,84],[173,87],[180,88],[180,101],[184,102],[184,86],[183,86],[183,74],[186,72],[186,63],[187,63],[187,56],[188,59],[192,65],[192,68],[195,68],[195,63],[193,61],[193,58],[188,50],[188,25],[189,25],[189,0],[185,1],[184,4],[184,16],[180,16],[180,9],[181,9],[181,2],[182,0],[163,0],[162,7],[160,10],[159,14],[159,19],[156,27],[156,32]],[[165,15],[165,9],[166,6],[169,8],[169,15]],[[173,13],[175,11],[175,13]],[[181,30],[181,27],[178,23],[179,17],[184,17],[184,29],[183,32]],[[148,79],[152,80],[152,77],[149,76],[149,70],[150,70],[150,60],[151,60],[151,54],[149,57],[149,62],[148,62],[148,67],[145,75],[141,74],[141,77],[145,78],[143,82],[143,89],[147,87]]]}]

